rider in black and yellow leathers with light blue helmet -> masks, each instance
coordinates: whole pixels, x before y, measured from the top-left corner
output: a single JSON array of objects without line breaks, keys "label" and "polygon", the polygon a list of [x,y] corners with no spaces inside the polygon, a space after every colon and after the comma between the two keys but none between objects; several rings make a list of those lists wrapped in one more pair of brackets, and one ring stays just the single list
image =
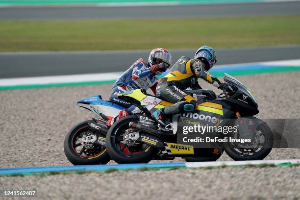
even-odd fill
[{"label": "rider in black and yellow leathers with light blue helmet", "polygon": [[164,107],[153,117],[161,120],[161,114],[174,115],[196,110],[196,100],[184,90],[202,89],[198,78],[202,78],[217,88],[222,87],[223,83],[208,72],[216,61],[215,50],[207,46],[202,46],[197,50],[194,59],[187,56],[180,57],[170,72],[159,80],[156,87],[157,97],[175,104]]}]

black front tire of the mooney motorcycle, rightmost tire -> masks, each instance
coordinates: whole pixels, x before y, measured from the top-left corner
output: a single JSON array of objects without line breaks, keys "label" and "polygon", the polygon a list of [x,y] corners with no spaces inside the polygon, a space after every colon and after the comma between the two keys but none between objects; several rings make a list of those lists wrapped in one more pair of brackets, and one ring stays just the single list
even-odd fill
[{"label": "black front tire of the mooney motorcycle, rightmost tire", "polygon": [[256,128],[256,130],[260,130],[265,133],[267,140],[264,144],[265,144],[266,148],[263,147],[261,150],[254,153],[253,155],[245,155],[245,154],[237,152],[234,148],[232,148],[230,143],[227,143],[225,145],[225,152],[227,153],[227,155],[230,158],[232,158],[233,160],[262,160],[262,159],[264,159],[272,150],[272,148],[270,148],[270,147],[273,147],[273,142],[274,142],[273,133],[272,133],[272,130],[270,129],[270,127],[266,123],[259,125]]}]

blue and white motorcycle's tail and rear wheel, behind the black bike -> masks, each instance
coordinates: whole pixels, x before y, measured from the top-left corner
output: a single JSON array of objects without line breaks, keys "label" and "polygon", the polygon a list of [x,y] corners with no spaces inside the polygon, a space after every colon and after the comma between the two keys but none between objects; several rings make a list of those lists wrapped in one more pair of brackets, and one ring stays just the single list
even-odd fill
[{"label": "blue and white motorcycle's tail and rear wheel, behind the black bike", "polygon": [[64,141],[65,154],[74,165],[106,164],[110,161],[105,145],[109,129],[106,122],[124,108],[102,100],[101,96],[79,100],[77,105],[92,111],[99,118],[81,122],[69,130]]}]

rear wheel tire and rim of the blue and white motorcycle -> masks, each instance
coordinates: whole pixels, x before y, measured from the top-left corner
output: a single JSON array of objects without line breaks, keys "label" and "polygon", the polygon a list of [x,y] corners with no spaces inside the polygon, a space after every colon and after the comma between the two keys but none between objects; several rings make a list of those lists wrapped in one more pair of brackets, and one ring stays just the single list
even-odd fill
[{"label": "rear wheel tire and rim of the blue and white motorcycle", "polygon": [[81,145],[80,138],[92,133],[92,129],[88,126],[89,122],[90,120],[75,125],[65,137],[65,155],[74,165],[97,165],[106,164],[110,161],[106,148],[97,146],[86,149]]}]

